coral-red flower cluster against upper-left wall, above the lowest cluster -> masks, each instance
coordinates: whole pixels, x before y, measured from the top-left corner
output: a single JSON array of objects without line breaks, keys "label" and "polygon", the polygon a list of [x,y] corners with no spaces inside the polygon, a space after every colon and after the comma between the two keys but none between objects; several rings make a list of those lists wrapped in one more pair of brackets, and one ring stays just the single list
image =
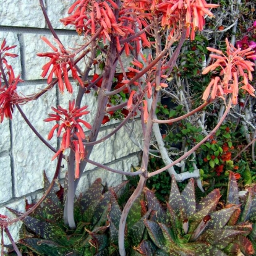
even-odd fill
[{"label": "coral-red flower cluster against upper-left wall, above the lowest cluster", "polygon": [[[56,38],[54,38],[54,40],[56,41],[56,43],[58,43],[59,49],[61,50],[60,52],[55,46],[53,46],[51,44],[51,42],[47,38],[42,36],[41,39],[43,41],[45,41],[45,43],[47,43],[47,45],[49,45],[54,51],[54,53],[38,53],[38,54],[36,54],[39,57],[48,57],[51,59],[48,63],[46,63],[42,67],[43,72],[41,74],[41,77],[46,77],[46,74],[48,74],[49,70],[51,69],[51,71],[49,72],[49,75],[48,75],[47,83],[49,84],[52,82],[53,74],[55,74],[58,79],[58,82],[59,82],[59,90],[63,93],[64,92],[64,84],[65,84],[67,91],[69,93],[72,93],[73,88],[72,88],[71,83],[69,82],[69,75],[68,75],[68,71],[67,71],[67,65],[69,65],[70,70],[72,72],[72,77],[75,80],[78,80],[80,85],[83,87],[83,81],[82,81],[82,79],[80,79],[79,74],[77,74],[77,70],[75,69],[74,63],[72,61],[72,58],[74,58],[74,55],[72,55],[68,51],[66,51],[64,46],[58,40],[56,40]],[[62,72],[63,72],[64,82],[62,80]]]}]

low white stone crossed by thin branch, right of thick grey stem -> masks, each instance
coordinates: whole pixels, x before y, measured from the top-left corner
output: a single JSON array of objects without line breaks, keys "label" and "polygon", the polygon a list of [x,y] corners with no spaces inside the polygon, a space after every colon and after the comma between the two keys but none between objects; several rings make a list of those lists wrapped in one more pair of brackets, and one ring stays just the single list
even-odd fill
[{"label": "low white stone crossed by thin branch, right of thick grey stem", "polygon": [[[122,171],[122,161],[108,165],[110,168],[118,169]],[[102,184],[108,187],[114,187],[122,183],[122,175],[118,173],[112,173],[105,169],[96,169],[88,174],[90,183],[92,184],[98,177],[101,178]]]}]

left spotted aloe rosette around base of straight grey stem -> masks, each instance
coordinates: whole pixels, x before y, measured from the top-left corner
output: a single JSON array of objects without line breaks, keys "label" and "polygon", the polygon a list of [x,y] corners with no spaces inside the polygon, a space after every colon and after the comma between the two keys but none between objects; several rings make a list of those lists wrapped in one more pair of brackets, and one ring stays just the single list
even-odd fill
[{"label": "left spotted aloe rosette around base of straight grey stem", "polygon": [[[45,187],[48,187],[48,183],[45,176]],[[121,210],[116,193],[126,183],[103,193],[101,179],[96,179],[87,192],[75,200],[77,227],[72,230],[64,224],[62,200],[51,191],[41,207],[33,212],[33,216],[23,220],[26,229],[23,228],[20,247],[27,247],[37,255],[45,256],[118,255],[115,244],[118,244],[117,227]],[[16,216],[22,215],[18,211],[9,210]]]}]

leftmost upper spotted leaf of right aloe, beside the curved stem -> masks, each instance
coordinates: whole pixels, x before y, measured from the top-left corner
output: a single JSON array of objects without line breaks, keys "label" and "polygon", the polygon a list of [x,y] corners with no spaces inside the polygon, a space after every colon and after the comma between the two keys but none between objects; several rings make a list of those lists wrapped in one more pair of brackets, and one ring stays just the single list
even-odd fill
[{"label": "leftmost upper spotted leaf of right aloe, beside the curved stem", "polygon": [[150,190],[146,191],[146,198],[148,203],[148,210],[156,211],[157,212],[157,221],[161,223],[165,223],[166,221],[166,212],[164,212],[163,208],[161,207],[160,202],[156,198],[155,194]]}]

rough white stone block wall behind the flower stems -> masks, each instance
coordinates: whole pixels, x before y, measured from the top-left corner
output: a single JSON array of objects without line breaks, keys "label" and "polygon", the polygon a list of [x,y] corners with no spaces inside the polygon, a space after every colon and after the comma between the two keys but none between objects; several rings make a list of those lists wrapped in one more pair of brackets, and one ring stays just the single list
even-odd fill
[{"label": "rough white stone block wall behind the flower stems", "polygon": [[[56,29],[56,33],[64,46],[74,47],[76,43],[82,43],[83,38],[71,28],[64,28],[59,19],[66,17],[67,9],[73,0],[45,0],[49,19]],[[46,80],[41,78],[41,67],[46,58],[39,58],[36,53],[51,51],[40,36],[44,35],[53,41],[49,32],[38,0],[11,1],[5,0],[0,8],[0,43],[6,38],[7,45],[17,45],[13,53],[19,54],[18,58],[9,59],[9,64],[14,67],[15,75],[21,74],[23,83],[19,83],[18,91],[23,95],[31,95],[46,87]],[[73,82],[75,90],[77,86]],[[30,101],[22,105],[22,111],[26,114],[33,126],[47,139],[52,123],[43,122],[51,112],[51,106],[61,105],[66,108],[74,95],[64,93],[61,95],[58,88],[45,93],[36,101]],[[87,121],[92,123],[96,111],[96,98],[93,95],[85,95],[83,105],[88,105],[91,113]],[[105,136],[116,127],[117,121],[111,121],[102,127],[100,137]],[[17,108],[14,109],[13,119],[4,120],[0,124],[0,214],[10,215],[6,206],[15,210],[25,211],[25,199],[32,202],[40,198],[43,187],[43,170],[51,180],[56,168],[56,160],[51,161],[53,152],[49,150],[23,121]],[[139,121],[135,122],[135,135],[140,137]],[[58,147],[58,140],[49,141],[53,147]],[[124,129],[104,143],[96,145],[91,159],[104,163],[111,168],[129,171],[131,164],[138,164],[140,148],[129,140],[129,135]],[[63,181],[64,168],[60,174]],[[77,193],[87,189],[97,178],[101,177],[103,183],[114,186],[122,182],[119,174],[109,173],[103,169],[95,168],[88,164],[79,183]],[[11,216],[12,218],[12,216]],[[20,224],[10,227],[14,239],[18,239]],[[7,239],[5,242],[8,243]]]}]

